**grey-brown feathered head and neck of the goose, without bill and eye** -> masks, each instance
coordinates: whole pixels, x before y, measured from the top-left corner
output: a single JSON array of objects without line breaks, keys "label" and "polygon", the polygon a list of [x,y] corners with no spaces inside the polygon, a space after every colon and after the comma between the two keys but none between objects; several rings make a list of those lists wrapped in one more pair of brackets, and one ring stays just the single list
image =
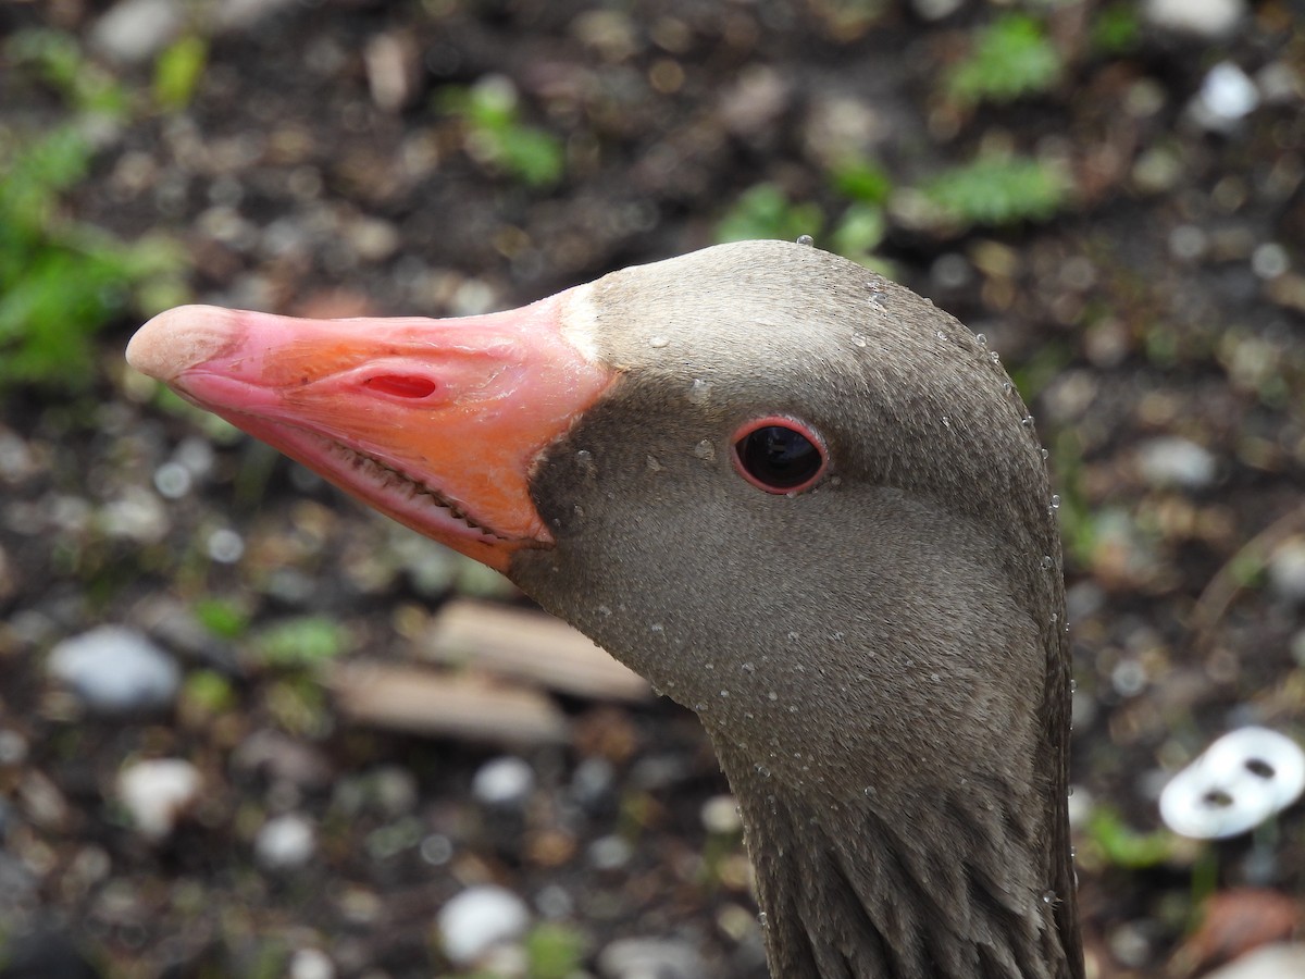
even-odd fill
[{"label": "grey-brown feathered head and neck of the goose, without bill and eye", "polygon": [[[1060,543],[1005,371],[928,302],[801,245],[590,290],[624,376],[538,463],[557,543],[512,576],[698,711],[773,974],[1082,976]],[[735,431],[765,415],[826,441],[813,489],[735,473]]]}]

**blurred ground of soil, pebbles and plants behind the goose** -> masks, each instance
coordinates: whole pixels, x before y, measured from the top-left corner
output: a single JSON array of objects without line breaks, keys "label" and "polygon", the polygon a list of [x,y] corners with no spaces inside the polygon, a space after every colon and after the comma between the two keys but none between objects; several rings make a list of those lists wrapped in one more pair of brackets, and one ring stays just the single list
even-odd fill
[{"label": "blurred ground of soil, pebbles and plants behind the goose", "polygon": [[1091,975],[1292,935],[1156,799],[1305,736],[1302,108],[1288,0],[0,5],[0,975],[763,976],[692,715],[121,351],[801,234],[1037,418]]}]

